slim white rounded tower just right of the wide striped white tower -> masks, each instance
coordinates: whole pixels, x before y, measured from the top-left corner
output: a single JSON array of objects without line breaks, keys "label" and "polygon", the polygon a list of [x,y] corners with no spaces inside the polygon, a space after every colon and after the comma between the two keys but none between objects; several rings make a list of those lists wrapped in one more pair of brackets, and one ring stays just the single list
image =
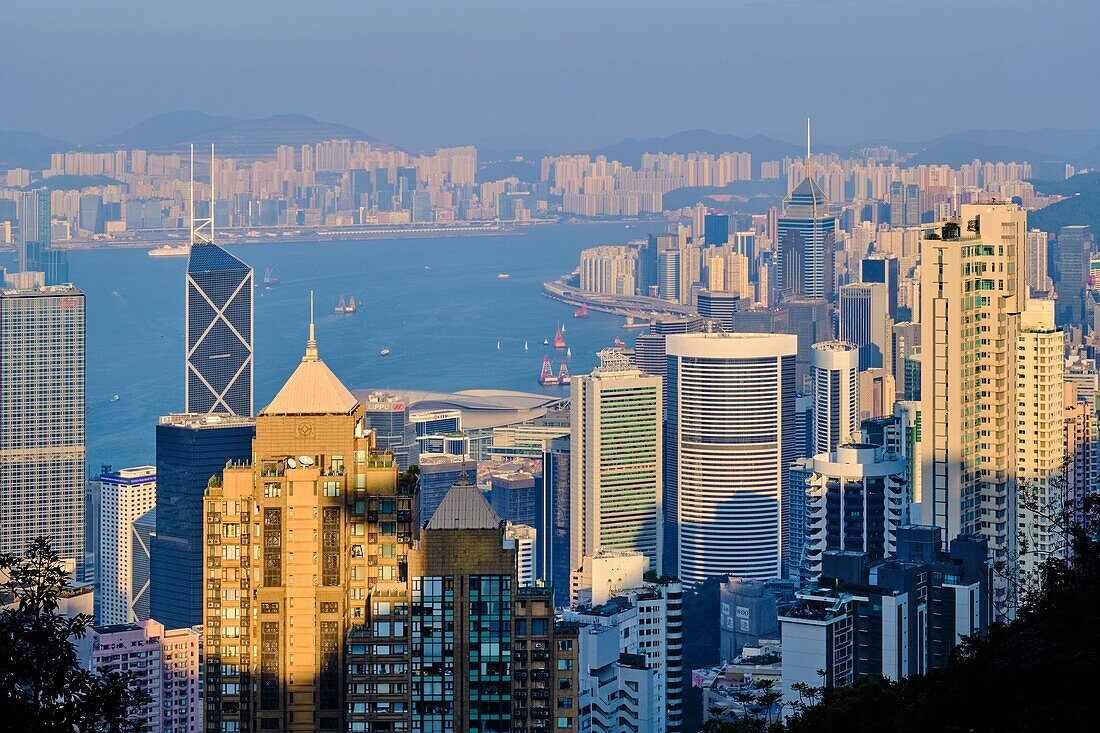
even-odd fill
[{"label": "slim white rounded tower just right of the wide striped white tower", "polygon": [[859,429],[859,349],[847,341],[812,347],[813,449],[827,453]]}]

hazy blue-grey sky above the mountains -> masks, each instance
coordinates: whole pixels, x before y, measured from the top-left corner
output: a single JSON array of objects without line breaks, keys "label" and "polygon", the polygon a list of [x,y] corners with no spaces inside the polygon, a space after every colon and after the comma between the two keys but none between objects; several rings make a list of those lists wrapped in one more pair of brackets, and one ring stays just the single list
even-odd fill
[{"label": "hazy blue-grey sky above the mountains", "polygon": [[175,109],[299,112],[410,149],[583,150],[1100,127],[1094,0],[35,0],[0,130],[86,143]]}]

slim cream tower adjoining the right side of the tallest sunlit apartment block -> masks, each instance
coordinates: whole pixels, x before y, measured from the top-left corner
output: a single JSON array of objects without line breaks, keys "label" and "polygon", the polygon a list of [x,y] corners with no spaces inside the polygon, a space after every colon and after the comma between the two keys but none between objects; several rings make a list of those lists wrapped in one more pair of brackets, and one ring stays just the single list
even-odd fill
[{"label": "slim cream tower adjoining the right side of the tallest sunlit apartment block", "polygon": [[1053,519],[1065,501],[1065,336],[1054,322],[1054,300],[1026,302],[1016,346],[1018,533],[1026,537],[1020,569],[1034,573],[1065,553]]}]

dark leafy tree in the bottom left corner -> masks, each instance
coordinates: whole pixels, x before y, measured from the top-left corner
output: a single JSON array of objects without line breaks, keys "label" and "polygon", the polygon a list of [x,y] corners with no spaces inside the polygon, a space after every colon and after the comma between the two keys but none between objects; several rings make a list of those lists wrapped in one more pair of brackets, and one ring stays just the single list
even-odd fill
[{"label": "dark leafy tree in the bottom left corner", "polygon": [[57,611],[72,588],[50,540],[35,539],[22,557],[0,556],[0,721],[6,730],[135,733],[148,694],[130,674],[82,669],[73,639],[91,627],[87,614]]}]

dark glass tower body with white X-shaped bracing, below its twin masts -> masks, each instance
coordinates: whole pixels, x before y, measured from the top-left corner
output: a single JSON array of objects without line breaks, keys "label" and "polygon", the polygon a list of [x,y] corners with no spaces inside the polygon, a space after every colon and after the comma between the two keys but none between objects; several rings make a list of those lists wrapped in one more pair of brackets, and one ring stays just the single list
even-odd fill
[{"label": "dark glass tower body with white X-shaped bracing, below its twin masts", "polygon": [[187,260],[185,412],[252,415],[252,269],[212,242]]}]

